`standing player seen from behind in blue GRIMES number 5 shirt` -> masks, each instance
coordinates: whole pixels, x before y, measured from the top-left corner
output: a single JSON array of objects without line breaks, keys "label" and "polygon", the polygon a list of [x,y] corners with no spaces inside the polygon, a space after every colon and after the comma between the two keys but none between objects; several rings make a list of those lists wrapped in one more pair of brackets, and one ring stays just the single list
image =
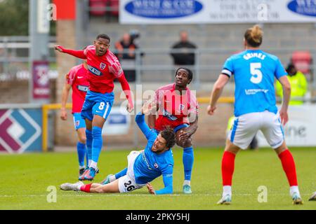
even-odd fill
[{"label": "standing player seen from behind in blue GRIMES number 5 shirt", "polygon": [[[281,62],[275,55],[260,50],[263,32],[258,25],[246,30],[243,52],[229,57],[214,84],[209,115],[216,111],[216,103],[231,76],[235,77],[235,121],[226,141],[222,159],[223,197],[218,204],[230,204],[232,200],[232,174],[235,157],[239,150],[246,149],[261,130],[265,139],[275,150],[290,186],[294,204],[303,204],[298,190],[294,158],[284,141],[282,125],[289,120],[287,110],[291,85]],[[275,100],[274,80],[283,87],[283,102],[278,111]]]}]

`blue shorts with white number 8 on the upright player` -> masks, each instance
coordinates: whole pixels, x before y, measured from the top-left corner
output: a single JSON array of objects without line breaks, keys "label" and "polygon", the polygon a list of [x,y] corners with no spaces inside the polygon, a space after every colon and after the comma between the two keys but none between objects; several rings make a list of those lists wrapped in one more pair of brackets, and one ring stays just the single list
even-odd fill
[{"label": "blue shorts with white number 8 on the upright player", "polygon": [[81,117],[93,120],[93,116],[98,115],[105,120],[109,116],[114,103],[114,93],[100,93],[88,90],[84,106],[81,109]]}]

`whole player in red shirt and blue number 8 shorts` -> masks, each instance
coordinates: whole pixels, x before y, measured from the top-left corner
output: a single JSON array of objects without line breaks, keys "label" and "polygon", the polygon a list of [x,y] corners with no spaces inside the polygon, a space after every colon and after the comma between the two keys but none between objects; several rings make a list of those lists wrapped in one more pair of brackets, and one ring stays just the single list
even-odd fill
[{"label": "whole player in red shirt and blue number 8 shorts", "polygon": [[88,64],[89,90],[81,110],[81,116],[86,120],[89,169],[79,177],[79,180],[92,181],[96,176],[97,163],[103,146],[102,128],[114,102],[115,78],[121,83],[121,87],[129,101],[127,110],[129,112],[133,111],[133,99],[129,83],[124,76],[119,60],[109,48],[110,37],[106,34],[99,34],[93,45],[88,45],[85,50],[70,50],[60,45],[55,46],[55,50],[86,59]]}]

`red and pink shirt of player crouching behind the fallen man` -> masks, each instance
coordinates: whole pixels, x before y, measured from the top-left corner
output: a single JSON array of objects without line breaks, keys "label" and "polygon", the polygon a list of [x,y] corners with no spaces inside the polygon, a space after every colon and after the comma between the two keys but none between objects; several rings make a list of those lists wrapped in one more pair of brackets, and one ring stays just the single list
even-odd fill
[{"label": "red and pink shirt of player crouching behind the fallen man", "polygon": [[186,88],[181,95],[176,91],[176,84],[160,87],[156,91],[156,100],[159,104],[159,116],[154,128],[158,131],[165,127],[177,127],[178,125],[190,124],[190,113],[197,114],[199,104],[195,94]]}]

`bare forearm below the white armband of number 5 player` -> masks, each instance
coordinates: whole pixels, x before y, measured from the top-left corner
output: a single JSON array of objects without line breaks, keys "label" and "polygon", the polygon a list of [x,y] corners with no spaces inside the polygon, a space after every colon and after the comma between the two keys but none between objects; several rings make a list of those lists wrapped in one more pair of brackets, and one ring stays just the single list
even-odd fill
[{"label": "bare forearm below the white armband of number 5 player", "polygon": [[216,80],[211,93],[210,105],[207,107],[207,113],[209,113],[209,115],[214,114],[216,103],[223,92],[224,86],[228,83],[228,80],[230,80],[230,78],[223,73],[220,74],[218,80]]}]

